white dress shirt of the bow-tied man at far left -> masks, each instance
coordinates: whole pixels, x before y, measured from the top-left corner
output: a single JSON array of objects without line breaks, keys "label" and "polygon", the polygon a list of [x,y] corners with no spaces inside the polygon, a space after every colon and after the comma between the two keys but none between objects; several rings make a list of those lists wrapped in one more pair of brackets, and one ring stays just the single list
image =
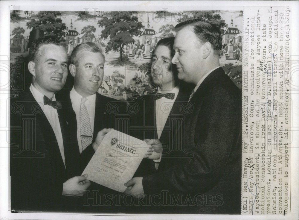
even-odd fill
[{"label": "white dress shirt of the bow-tied man at far left", "polygon": [[[48,122],[50,123],[54,131],[59,146],[60,154],[65,166],[63,139],[57,109],[53,108],[50,105],[44,105],[44,95],[41,92],[39,92],[39,90],[37,90],[32,84],[30,85],[29,89],[39,106],[42,108],[42,111],[44,112],[46,118],[48,119]],[[53,95],[52,101],[56,101],[55,94]]]}]

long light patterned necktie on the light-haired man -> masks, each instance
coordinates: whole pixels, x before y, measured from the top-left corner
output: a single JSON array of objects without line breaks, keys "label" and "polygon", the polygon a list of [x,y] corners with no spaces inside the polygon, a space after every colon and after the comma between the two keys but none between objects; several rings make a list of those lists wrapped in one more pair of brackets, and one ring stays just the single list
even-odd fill
[{"label": "long light patterned necktie on the light-haired man", "polygon": [[80,133],[82,151],[92,143],[92,131],[89,114],[85,105],[87,98],[82,97],[80,104]]}]

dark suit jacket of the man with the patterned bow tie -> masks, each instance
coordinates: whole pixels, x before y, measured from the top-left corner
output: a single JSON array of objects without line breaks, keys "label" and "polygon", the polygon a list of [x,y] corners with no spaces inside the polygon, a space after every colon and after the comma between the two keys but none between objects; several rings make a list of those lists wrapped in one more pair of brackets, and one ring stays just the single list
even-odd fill
[{"label": "dark suit jacket of the man with the patterned bow tie", "polygon": [[[181,145],[183,141],[181,137],[184,136],[184,131],[180,126],[181,121],[184,119],[184,107],[186,107],[193,87],[193,85],[181,82],[179,93],[173,103],[159,139],[163,145],[163,155],[158,169],[155,169],[153,160],[144,159],[134,176],[144,176],[161,172],[167,167],[170,167],[172,163],[175,163],[176,160],[173,160],[173,158],[178,154],[179,148],[177,146]],[[134,127],[131,135],[141,140],[158,139],[155,94],[156,93],[152,93],[138,98],[136,102],[139,111],[131,116],[131,128]]]}]

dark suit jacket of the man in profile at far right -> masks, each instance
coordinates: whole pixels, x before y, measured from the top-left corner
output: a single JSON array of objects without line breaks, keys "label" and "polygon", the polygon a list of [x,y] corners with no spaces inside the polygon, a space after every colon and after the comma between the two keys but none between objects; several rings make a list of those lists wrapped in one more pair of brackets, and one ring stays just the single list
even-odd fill
[{"label": "dark suit jacket of the man in profile at far right", "polygon": [[185,109],[184,152],[171,167],[144,176],[144,192],[181,193],[187,200],[175,206],[179,213],[240,214],[241,104],[240,90],[223,69],[211,72]]}]

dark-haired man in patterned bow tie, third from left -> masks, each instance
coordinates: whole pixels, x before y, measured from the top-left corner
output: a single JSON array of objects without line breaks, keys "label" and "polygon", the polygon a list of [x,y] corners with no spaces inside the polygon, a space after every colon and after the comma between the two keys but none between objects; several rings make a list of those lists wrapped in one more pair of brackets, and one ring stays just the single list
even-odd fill
[{"label": "dark-haired man in patterned bow tie, third from left", "polygon": [[134,127],[132,135],[142,140],[155,139],[149,141],[149,144],[161,143],[164,147],[161,149],[163,156],[161,157],[162,151],[156,155],[154,152],[148,159],[157,156],[158,159],[142,160],[134,176],[161,172],[171,166],[182,141],[178,138],[184,136],[184,131],[178,124],[184,118],[183,109],[192,88],[177,78],[176,66],[171,63],[175,54],[173,43],[174,37],[161,39],[157,43],[151,63],[152,83],[157,90],[135,100],[139,111],[136,115],[133,114],[130,120],[130,125]]}]

